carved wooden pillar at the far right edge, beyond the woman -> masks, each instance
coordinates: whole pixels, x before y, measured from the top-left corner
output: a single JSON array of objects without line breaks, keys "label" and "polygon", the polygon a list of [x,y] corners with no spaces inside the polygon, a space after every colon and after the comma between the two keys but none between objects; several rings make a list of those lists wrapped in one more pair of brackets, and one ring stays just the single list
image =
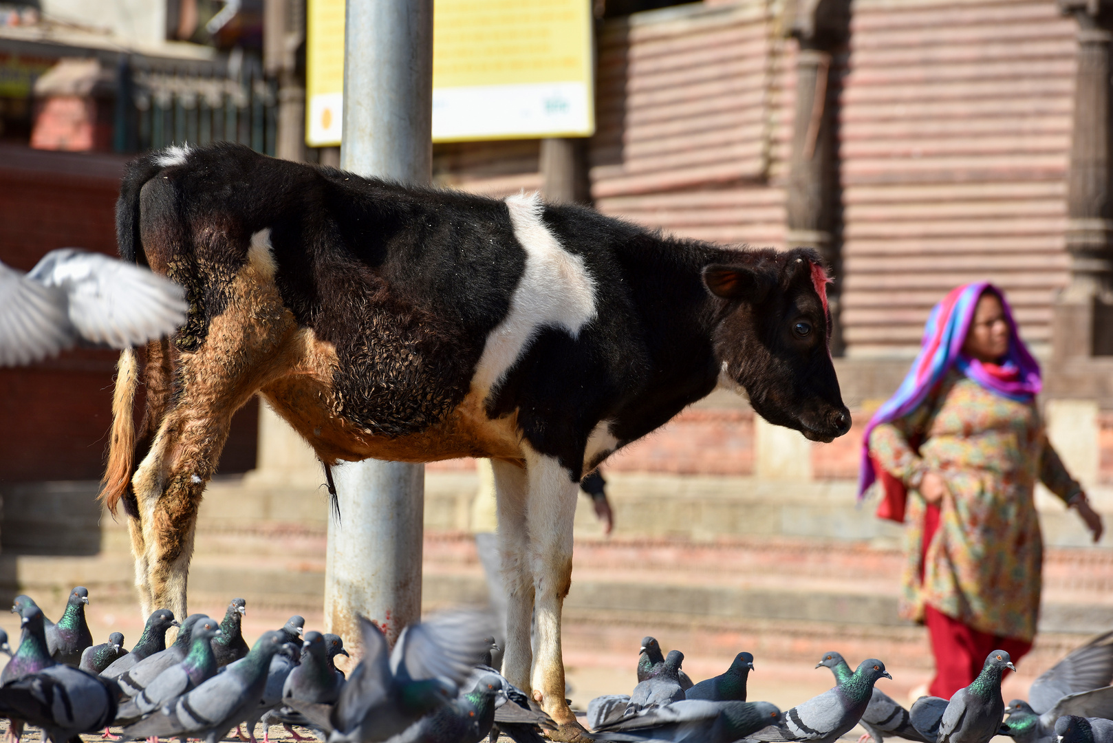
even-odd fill
[{"label": "carved wooden pillar at the far right edge, beyond the woman", "polygon": [[1078,47],[1066,197],[1071,282],[1055,299],[1056,362],[1113,353],[1109,12],[1100,0],[1060,0],[1060,7],[1078,22]]}]

